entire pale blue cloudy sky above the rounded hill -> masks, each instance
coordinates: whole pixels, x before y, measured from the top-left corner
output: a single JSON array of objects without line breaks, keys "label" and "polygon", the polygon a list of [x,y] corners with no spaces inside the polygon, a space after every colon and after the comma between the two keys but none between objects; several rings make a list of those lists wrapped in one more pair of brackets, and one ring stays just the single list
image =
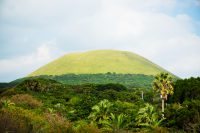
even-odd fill
[{"label": "entire pale blue cloudy sky above the rounded hill", "polygon": [[0,0],[0,82],[96,49],[200,76],[200,0]]}]

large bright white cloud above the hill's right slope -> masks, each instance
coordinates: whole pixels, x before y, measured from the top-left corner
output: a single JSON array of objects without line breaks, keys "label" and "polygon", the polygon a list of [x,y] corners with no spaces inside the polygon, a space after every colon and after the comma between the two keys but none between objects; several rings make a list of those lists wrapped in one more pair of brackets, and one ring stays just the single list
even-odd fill
[{"label": "large bright white cloud above the hill's right slope", "polygon": [[[89,47],[131,50],[180,77],[200,75],[200,37],[194,33],[190,16],[108,7],[73,25],[79,29],[74,34],[80,34],[81,42],[90,42]],[[83,27],[89,27],[84,35]]]}]

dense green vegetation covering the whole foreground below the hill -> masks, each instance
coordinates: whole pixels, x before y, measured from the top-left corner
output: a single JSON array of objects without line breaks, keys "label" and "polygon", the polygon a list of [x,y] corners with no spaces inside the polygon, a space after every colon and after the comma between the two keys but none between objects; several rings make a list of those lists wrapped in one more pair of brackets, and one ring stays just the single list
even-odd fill
[{"label": "dense green vegetation covering the whole foreground below the hill", "polygon": [[[200,132],[200,78],[177,80],[166,99],[152,88],[67,85],[26,79],[0,92],[2,132]],[[142,99],[142,95],[144,98]]]}]

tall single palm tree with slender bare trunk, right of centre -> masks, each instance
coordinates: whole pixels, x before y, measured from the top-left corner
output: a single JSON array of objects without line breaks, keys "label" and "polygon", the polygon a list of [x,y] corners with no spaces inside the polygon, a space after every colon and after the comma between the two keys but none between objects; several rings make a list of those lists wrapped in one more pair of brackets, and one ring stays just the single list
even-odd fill
[{"label": "tall single palm tree with slender bare trunk, right of centre", "polygon": [[153,81],[153,89],[160,93],[162,99],[162,113],[164,113],[164,104],[168,95],[174,93],[172,86],[172,77],[168,73],[160,73],[155,76]]}]

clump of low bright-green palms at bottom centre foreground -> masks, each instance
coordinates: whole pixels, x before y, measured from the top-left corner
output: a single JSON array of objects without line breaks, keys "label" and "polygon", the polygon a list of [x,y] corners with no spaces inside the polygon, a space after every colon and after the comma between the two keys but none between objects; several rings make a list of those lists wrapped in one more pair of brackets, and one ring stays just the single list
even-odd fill
[{"label": "clump of low bright-green palms at bottom centre foreground", "polygon": [[107,99],[100,101],[92,107],[89,119],[93,125],[97,125],[104,132],[118,132],[127,127],[127,116],[123,113],[116,115],[112,111],[113,103]]}]

